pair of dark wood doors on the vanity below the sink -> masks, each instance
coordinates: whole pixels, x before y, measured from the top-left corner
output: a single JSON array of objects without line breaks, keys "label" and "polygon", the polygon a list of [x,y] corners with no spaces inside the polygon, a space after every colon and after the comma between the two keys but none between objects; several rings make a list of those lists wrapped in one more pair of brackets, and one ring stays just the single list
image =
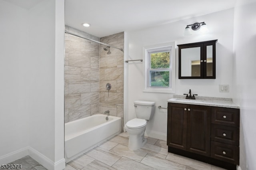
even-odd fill
[{"label": "pair of dark wood doors on the vanity below the sink", "polygon": [[210,156],[210,108],[168,103],[168,146]]}]

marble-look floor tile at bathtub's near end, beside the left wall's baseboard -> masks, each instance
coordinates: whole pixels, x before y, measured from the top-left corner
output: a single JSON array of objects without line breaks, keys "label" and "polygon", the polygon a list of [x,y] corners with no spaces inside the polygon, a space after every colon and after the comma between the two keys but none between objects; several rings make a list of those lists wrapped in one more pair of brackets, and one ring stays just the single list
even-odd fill
[{"label": "marble-look floor tile at bathtub's near end, beside the left wall's baseboard", "polygon": [[80,170],[84,168],[84,166],[90,164],[92,161],[94,161],[94,158],[88,155],[82,154],[81,156],[78,156],[74,160],[71,160],[70,162],[68,162],[68,164],[73,166],[77,170]]}]

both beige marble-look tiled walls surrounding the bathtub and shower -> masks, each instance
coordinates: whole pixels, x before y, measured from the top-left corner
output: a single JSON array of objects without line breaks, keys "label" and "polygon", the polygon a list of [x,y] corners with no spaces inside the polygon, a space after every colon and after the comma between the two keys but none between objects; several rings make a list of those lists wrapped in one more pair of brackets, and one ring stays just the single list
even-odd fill
[{"label": "both beige marble-look tiled walls surrounding the bathtub and shower", "polygon": [[[124,48],[123,32],[97,38],[69,26],[66,30]],[[65,34],[65,123],[109,110],[122,118],[124,127],[124,52],[112,47],[104,51],[105,46]]]}]

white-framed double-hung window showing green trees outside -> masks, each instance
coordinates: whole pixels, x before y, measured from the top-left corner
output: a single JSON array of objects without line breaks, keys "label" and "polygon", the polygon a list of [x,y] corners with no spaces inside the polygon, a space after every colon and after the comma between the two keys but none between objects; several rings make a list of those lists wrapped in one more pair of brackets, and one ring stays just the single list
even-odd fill
[{"label": "white-framed double-hung window showing green trees outside", "polygon": [[175,43],[144,47],[145,92],[175,93]]}]

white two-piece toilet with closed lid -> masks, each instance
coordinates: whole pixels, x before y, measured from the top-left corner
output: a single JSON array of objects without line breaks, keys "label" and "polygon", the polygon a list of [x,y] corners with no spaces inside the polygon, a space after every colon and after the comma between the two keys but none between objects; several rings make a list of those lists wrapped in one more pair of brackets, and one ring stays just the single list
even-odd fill
[{"label": "white two-piece toilet with closed lid", "polygon": [[124,126],[129,134],[128,148],[130,150],[138,150],[147,142],[147,139],[144,138],[144,132],[147,121],[154,114],[154,107],[154,101],[134,101],[137,118],[128,121]]}]

